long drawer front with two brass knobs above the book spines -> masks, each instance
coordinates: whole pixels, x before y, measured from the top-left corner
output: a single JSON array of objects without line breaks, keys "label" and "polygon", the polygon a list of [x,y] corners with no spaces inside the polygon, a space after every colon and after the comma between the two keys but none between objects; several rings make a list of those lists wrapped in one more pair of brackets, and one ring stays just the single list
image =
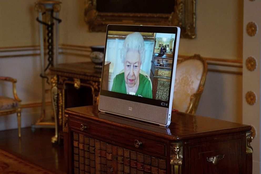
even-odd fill
[{"label": "long drawer front with two brass knobs above the book spines", "polygon": [[70,128],[81,131],[81,125],[86,127],[86,129],[83,130],[83,133],[87,133],[88,135],[101,137],[114,143],[117,142],[124,145],[124,147],[127,148],[135,148],[135,143],[137,145],[138,143],[140,143],[139,147],[136,148],[142,151],[155,153],[160,156],[166,156],[165,142],[152,140],[146,137],[138,137],[135,136],[135,133],[133,135],[130,135],[128,133],[115,130],[115,127],[106,127],[95,124],[83,123],[81,121],[69,120]]}]

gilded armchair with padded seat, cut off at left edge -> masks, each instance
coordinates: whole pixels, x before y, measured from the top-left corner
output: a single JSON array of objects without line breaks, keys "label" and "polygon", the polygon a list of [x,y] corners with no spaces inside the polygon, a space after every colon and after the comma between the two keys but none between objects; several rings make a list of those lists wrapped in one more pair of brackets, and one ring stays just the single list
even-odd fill
[{"label": "gilded armchair with padded seat, cut off at left edge", "polygon": [[18,136],[21,137],[21,100],[18,98],[16,93],[16,82],[15,78],[1,77],[0,81],[7,81],[13,84],[13,98],[6,96],[0,96],[0,116],[17,113],[17,125],[18,125]]}]

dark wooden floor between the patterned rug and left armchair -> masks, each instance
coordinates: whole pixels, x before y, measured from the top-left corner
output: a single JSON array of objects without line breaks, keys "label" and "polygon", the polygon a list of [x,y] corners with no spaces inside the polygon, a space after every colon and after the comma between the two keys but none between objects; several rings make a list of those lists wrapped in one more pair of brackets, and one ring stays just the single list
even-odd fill
[{"label": "dark wooden floor between the patterned rug and left armchair", "polygon": [[0,148],[54,173],[66,173],[63,146],[52,145],[52,136],[50,128],[22,128],[21,139],[17,129],[0,131]]}]

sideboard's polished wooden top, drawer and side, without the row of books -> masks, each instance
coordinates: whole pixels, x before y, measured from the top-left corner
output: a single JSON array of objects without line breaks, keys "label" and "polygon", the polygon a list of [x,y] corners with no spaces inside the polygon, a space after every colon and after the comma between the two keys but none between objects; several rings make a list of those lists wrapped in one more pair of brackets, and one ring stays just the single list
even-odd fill
[{"label": "sideboard's polished wooden top, drawer and side, without the row of books", "polygon": [[[79,161],[73,155],[77,145],[72,143],[74,133],[163,160],[165,173],[176,173],[177,168],[182,174],[252,173],[246,136],[251,127],[247,125],[174,112],[171,124],[160,127],[99,112],[97,105],[68,108],[65,113],[68,173],[78,170],[74,166],[75,160]],[[138,148],[137,141],[141,144]]]}]

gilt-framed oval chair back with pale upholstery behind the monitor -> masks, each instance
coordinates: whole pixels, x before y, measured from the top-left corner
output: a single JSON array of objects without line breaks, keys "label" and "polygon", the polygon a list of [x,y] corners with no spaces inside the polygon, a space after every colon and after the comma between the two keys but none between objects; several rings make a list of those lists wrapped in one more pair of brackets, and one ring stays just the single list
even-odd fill
[{"label": "gilt-framed oval chair back with pale upholstery behind the monitor", "polygon": [[172,108],[194,114],[207,76],[207,63],[199,54],[177,64]]}]

